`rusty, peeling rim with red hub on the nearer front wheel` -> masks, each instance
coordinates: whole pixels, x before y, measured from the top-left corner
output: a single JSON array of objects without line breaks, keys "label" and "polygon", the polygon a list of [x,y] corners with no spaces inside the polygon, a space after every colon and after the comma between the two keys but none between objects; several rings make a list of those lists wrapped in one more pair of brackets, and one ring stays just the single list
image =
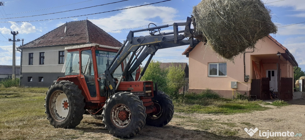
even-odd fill
[{"label": "rusty, peeling rim with red hub on the nearer front wheel", "polygon": [[111,122],[117,128],[125,128],[131,122],[131,110],[124,104],[117,104],[111,109]]}]

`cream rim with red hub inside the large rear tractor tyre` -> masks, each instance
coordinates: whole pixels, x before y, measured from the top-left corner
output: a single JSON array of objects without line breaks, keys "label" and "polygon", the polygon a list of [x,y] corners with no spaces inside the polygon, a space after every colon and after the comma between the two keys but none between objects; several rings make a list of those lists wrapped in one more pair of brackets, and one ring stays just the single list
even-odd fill
[{"label": "cream rim with red hub inside the large rear tractor tyre", "polygon": [[56,90],[52,93],[50,100],[50,111],[52,118],[54,118],[57,122],[64,121],[70,110],[69,100],[67,95],[61,91]]}]

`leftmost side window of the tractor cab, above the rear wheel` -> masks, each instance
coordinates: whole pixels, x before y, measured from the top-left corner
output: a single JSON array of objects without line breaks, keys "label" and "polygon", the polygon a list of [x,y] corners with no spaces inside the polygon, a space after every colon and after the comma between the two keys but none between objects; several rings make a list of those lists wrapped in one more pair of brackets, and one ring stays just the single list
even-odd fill
[{"label": "leftmost side window of the tractor cab, above the rear wheel", "polygon": [[65,75],[78,75],[79,74],[79,52],[68,52],[63,66]]}]

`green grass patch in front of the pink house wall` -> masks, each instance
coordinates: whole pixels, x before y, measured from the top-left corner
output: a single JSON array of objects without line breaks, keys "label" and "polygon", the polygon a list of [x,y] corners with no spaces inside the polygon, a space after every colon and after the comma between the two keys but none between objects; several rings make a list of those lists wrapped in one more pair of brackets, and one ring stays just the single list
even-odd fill
[{"label": "green grass patch in front of the pink house wall", "polygon": [[228,115],[269,109],[260,105],[263,101],[222,98],[210,90],[199,94],[186,93],[181,96],[174,100],[175,112]]}]

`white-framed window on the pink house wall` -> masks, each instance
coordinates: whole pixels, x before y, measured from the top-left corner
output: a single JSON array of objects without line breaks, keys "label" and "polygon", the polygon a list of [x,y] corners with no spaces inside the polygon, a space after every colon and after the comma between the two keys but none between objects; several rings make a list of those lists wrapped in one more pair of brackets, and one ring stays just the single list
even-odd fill
[{"label": "white-framed window on the pink house wall", "polygon": [[209,76],[227,76],[227,63],[209,63]]}]

